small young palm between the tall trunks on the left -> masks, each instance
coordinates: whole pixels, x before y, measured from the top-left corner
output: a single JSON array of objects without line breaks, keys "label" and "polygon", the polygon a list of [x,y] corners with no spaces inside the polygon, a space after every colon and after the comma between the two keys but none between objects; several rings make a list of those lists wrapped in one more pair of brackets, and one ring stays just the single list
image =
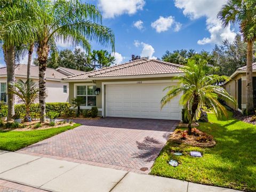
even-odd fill
[{"label": "small young palm between the tall trunks on the left", "polygon": [[20,103],[24,103],[26,107],[26,116],[24,121],[29,121],[30,106],[38,100],[39,88],[33,79],[27,79],[24,83],[21,79],[17,82],[11,82],[14,89],[12,93],[17,95]]}]

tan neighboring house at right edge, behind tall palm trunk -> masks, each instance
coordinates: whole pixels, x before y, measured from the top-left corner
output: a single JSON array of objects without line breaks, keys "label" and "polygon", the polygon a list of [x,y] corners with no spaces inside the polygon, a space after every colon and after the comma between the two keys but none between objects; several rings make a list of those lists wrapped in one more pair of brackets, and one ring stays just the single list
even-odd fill
[{"label": "tan neighboring house at right edge, behind tall palm trunk", "polygon": [[[253,72],[253,102],[256,104],[256,63],[252,65]],[[230,76],[230,81],[224,83],[226,91],[233,96],[237,105],[228,102],[227,105],[235,110],[244,111],[246,109],[246,66],[238,68],[234,74]]]}]

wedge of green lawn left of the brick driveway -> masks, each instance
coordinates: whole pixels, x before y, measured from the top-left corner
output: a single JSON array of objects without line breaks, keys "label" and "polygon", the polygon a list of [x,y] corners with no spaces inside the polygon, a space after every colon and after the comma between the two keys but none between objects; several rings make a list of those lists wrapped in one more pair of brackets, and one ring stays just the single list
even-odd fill
[{"label": "wedge of green lawn left of the brick driveway", "polygon": [[0,149],[15,151],[59,133],[74,129],[80,124],[35,131],[0,131]]}]

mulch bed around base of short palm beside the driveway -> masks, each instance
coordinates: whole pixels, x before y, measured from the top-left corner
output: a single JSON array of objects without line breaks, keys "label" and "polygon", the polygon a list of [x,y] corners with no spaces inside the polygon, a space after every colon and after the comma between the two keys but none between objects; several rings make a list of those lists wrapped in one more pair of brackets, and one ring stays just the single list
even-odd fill
[{"label": "mulch bed around base of short palm beside the driveway", "polygon": [[187,134],[187,130],[175,130],[170,135],[170,140],[176,143],[186,143],[196,147],[213,147],[216,145],[212,135],[206,134],[196,128],[192,129],[191,135]]}]

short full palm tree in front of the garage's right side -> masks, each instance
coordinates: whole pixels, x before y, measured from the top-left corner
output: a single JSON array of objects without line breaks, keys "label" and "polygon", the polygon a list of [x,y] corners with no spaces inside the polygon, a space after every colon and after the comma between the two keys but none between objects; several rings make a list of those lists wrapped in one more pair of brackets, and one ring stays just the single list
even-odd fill
[{"label": "short full palm tree in front of the garage's right side", "polygon": [[185,76],[177,76],[180,86],[169,86],[164,89],[166,95],[161,100],[162,107],[169,103],[173,98],[183,93],[180,104],[186,106],[188,115],[188,134],[191,134],[191,124],[196,114],[196,110],[203,105],[211,106],[215,115],[220,118],[221,115],[227,116],[226,108],[221,105],[218,99],[235,102],[225,89],[218,84],[229,79],[227,76],[209,75],[212,67],[207,65],[205,60],[188,59],[185,67],[181,68]]}]

